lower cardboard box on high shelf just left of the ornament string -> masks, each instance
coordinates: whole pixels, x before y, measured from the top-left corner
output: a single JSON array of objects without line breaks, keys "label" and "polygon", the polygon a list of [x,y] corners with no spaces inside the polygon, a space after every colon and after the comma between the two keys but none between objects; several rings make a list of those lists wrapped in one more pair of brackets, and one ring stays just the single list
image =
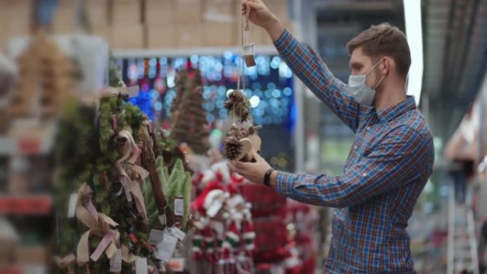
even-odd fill
[{"label": "lower cardboard box on high shelf just left of the ornament string", "polygon": [[203,46],[239,46],[236,23],[206,22],[203,27]]}]

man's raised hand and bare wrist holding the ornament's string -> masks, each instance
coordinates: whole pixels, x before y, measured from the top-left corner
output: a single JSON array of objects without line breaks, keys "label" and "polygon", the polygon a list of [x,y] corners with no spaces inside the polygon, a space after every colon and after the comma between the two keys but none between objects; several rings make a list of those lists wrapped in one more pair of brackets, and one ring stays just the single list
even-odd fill
[{"label": "man's raised hand and bare wrist holding the ornament's string", "polygon": [[248,14],[248,19],[266,29],[272,41],[276,41],[283,34],[286,27],[268,9],[262,0],[241,0],[242,15]]}]

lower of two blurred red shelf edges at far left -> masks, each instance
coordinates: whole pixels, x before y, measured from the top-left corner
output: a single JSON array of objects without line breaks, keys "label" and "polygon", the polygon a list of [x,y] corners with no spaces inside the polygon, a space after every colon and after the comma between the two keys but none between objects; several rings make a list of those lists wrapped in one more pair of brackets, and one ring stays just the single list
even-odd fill
[{"label": "lower of two blurred red shelf edges at far left", "polygon": [[50,194],[0,195],[0,215],[48,215],[52,206],[53,198]]}]

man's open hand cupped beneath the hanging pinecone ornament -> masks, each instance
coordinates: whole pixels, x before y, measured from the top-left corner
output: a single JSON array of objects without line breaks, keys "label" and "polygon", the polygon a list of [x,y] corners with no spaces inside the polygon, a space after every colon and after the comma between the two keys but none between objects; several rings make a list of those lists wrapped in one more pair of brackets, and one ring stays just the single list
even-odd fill
[{"label": "man's open hand cupped beneath the hanging pinecone ornament", "polygon": [[255,163],[229,161],[228,166],[232,171],[244,176],[248,181],[252,181],[256,184],[263,184],[266,172],[272,167],[261,157],[261,155],[257,154],[257,152],[252,151],[252,155],[256,159]]}]

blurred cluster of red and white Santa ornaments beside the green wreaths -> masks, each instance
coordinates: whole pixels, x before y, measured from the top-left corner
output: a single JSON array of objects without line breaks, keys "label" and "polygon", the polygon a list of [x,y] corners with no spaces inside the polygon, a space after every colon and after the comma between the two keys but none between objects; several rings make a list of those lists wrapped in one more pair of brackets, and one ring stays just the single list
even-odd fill
[{"label": "blurred cluster of red and white Santa ornaments beside the green wreaths", "polygon": [[251,204],[239,193],[242,181],[226,162],[197,176],[204,189],[192,203],[194,273],[253,273],[256,233]]}]

